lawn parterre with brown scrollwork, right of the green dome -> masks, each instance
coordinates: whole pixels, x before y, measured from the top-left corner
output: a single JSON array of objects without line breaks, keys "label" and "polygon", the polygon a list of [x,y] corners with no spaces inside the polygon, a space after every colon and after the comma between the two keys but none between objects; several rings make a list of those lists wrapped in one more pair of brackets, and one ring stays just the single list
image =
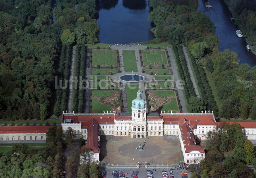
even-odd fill
[{"label": "lawn parterre with brown scrollwork, right of the green dome", "polygon": [[148,100],[150,104],[150,111],[162,110],[173,111],[173,113],[179,113],[178,103],[176,100],[176,94],[173,90],[148,90]]}]

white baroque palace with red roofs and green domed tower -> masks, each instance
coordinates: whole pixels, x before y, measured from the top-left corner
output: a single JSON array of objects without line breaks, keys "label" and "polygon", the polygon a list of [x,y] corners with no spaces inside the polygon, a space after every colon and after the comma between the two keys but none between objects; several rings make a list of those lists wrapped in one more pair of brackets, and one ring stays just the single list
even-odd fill
[{"label": "white baroque palace with red roofs and green domed tower", "polygon": [[[256,123],[238,122],[243,127],[244,137],[255,140]],[[185,163],[198,163],[204,159],[205,151],[196,145],[196,140],[207,139],[207,132],[221,127],[216,122],[213,112],[201,113],[146,113],[146,101],[142,99],[140,89],[137,97],[132,101],[131,113],[110,113],[103,111],[95,113],[62,114],[61,126],[63,131],[71,127],[76,139],[86,140],[90,161],[100,161],[100,136],[114,135],[115,137],[162,137],[176,135],[179,137]],[[46,132],[51,126],[2,126],[0,127],[0,141],[8,140],[45,140]],[[60,127],[60,126],[58,126]],[[255,130],[255,131],[254,131]],[[80,156],[80,164],[84,163]]]}]

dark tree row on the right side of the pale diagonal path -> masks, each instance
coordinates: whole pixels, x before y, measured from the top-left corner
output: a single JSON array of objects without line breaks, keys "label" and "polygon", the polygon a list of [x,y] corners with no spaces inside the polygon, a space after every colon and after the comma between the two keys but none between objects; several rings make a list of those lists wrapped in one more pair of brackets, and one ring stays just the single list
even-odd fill
[{"label": "dark tree row on the right side of the pale diagonal path", "polygon": [[208,83],[205,70],[202,68],[200,64],[196,64],[195,58],[189,52],[188,52],[188,55],[190,56],[192,66],[195,70],[194,72],[198,79],[198,86],[201,90],[201,98],[206,103],[206,109],[210,111],[214,111],[215,116],[218,116],[219,109],[216,104],[216,101],[214,100],[214,95]]}]

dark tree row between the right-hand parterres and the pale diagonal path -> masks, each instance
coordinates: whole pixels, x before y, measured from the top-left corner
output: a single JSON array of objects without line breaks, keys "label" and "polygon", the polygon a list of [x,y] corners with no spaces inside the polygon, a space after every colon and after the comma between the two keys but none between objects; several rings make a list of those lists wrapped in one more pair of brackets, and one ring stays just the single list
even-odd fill
[{"label": "dark tree row between the right-hand parterres and the pale diagonal path", "polygon": [[[181,50],[181,48],[180,48],[180,50]],[[177,68],[178,68],[178,72],[180,75],[180,79],[185,82],[184,91],[185,91],[186,100],[187,100],[187,102],[189,102],[189,98],[191,96],[196,96],[196,94],[195,94],[195,90],[193,87],[193,83],[190,80],[190,75],[188,73],[188,68],[187,68],[187,64],[185,62],[184,54],[183,54],[183,52],[179,53],[178,47],[175,45],[173,46],[173,51],[174,51],[174,55],[176,57]]]}]

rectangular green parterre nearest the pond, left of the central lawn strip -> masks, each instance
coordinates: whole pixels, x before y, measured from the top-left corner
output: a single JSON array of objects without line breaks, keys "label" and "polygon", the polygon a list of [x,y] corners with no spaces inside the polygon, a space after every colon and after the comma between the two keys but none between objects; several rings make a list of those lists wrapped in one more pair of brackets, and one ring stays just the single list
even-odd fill
[{"label": "rectangular green parterre nearest the pond, left of the central lawn strip", "polygon": [[117,53],[111,49],[93,49],[92,67],[117,67]]}]

